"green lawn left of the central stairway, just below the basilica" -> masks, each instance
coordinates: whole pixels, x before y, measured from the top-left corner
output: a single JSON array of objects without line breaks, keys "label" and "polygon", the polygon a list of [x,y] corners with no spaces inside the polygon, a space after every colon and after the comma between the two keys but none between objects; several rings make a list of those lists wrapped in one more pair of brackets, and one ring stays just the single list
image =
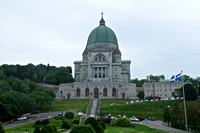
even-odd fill
[{"label": "green lawn left of the central stairway, just below the basilica", "polygon": [[51,106],[41,107],[40,112],[57,112],[57,111],[66,111],[66,110],[81,110],[86,109],[88,106],[89,99],[70,99],[62,101],[53,101]]}]

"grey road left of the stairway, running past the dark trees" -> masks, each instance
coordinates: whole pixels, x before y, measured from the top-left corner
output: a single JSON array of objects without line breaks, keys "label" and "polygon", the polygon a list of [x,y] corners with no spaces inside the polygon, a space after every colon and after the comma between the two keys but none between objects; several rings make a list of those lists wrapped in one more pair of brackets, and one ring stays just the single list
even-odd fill
[{"label": "grey road left of the stairway, running past the dark trees", "polygon": [[[62,111],[63,114],[65,114],[67,111]],[[77,114],[77,112],[75,110],[71,110],[70,112],[73,112],[74,115]],[[59,112],[48,112],[48,113],[39,113],[39,114],[32,114],[32,115],[28,115],[26,120],[21,120],[21,121],[13,121],[11,123],[4,123],[3,127],[4,128],[10,128],[10,127],[15,127],[15,126],[19,126],[19,125],[23,125],[26,123],[30,123],[30,122],[34,122],[37,120],[43,120],[43,119],[47,119],[47,118],[51,118],[54,116],[57,116]]]}]

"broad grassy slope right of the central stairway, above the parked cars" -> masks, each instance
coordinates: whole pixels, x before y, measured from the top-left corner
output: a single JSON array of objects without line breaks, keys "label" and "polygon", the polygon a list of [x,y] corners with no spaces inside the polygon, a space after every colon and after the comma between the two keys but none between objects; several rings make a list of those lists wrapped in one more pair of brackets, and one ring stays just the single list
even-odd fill
[{"label": "broad grassy slope right of the central stairway, above the parked cars", "polygon": [[[124,102],[124,101],[123,101]],[[113,103],[115,103],[113,101]],[[126,115],[127,117],[155,117],[158,120],[162,120],[163,109],[168,105],[172,106],[174,101],[157,101],[157,102],[145,102],[138,104],[128,104],[128,105],[117,105],[112,107],[104,107],[107,104],[107,100],[102,101],[101,114],[113,116]]]}]

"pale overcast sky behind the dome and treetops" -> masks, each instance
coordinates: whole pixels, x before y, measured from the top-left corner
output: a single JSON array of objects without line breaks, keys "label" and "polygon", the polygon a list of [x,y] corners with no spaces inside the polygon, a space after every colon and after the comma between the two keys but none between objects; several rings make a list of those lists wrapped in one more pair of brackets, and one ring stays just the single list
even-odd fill
[{"label": "pale overcast sky behind the dome and treetops", "polygon": [[200,76],[200,0],[0,0],[0,65],[74,70],[102,11],[131,79]]}]

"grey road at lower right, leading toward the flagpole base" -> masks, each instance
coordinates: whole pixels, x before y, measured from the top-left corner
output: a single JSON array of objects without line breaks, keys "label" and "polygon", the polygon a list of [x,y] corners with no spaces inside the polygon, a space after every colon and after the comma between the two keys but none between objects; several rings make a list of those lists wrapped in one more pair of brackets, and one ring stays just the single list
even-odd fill
[{"label": "grey road at lower right, leading toward the flagpole base", "polygon": [[134,122],[134,123],[146,125],[148,127],[158,129],[158,130],[161,130],[161,131],[164,131],[164,132],[167,132],[167,133],[188,133],[188,132],[183,131],[183,130],[167,127],[167,126],[165,126],[163,121],[144,120],[144,121],[141,121],[141,122]]}]

